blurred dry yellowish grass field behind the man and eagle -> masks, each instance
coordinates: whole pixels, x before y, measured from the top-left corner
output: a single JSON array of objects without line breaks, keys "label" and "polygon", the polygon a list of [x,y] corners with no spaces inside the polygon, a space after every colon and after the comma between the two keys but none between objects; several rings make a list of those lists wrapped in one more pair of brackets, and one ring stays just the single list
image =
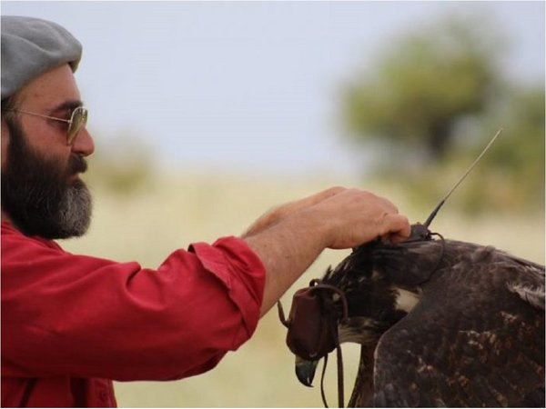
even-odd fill
[{"label": "blurred dry yellowish grass field behind the man and eagle", "polygon": [[[176,248],[197,241],[242,233],[273,205],[310,195],[330,185],[359,185],[389,197],[412,222],[423,221],[430,209],[405,203],[389,186],[361,185],[351,180],[268,179],[235,175],[165,176],[139,194],[116,196],[95,192],[95,217],[86,237],[63,243],[75,253],[95,254],[118,261],[136,260],[156,267]],[[467,219],[446,205],[433,230],[447,238],[493,244],[512,254],[544,262],[544,214],[491,215]],[[327,251],[283,297],[337,264],[345,251]],[[227,354],[208,374],[170,383],[116,384],[120,406],[132,407],[309,407],[322,406],[319,382],[305,388],[294,374],[293,356],[285,345],[285,328],[271,311],[258,324],[255,336],[237,352]],[[352,387],[358,348],[344,346],[347,394]],[[329,402],[336,404],[335,359],[326,375]]]}]

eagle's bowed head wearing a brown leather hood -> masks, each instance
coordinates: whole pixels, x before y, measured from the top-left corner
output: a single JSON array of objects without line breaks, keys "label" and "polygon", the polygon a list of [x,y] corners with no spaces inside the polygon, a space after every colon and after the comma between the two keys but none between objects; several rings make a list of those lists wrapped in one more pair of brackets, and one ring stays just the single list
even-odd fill
[{"label": "eagle's bowed head wearing a brown leather hood", "polygon": [[[419,282],[439,259],[440,244],[415,251],[425,242],[435,241],[415,233],[403,244],[362,245],[294,295],[287,344],[296,354],[302,384],[311,385],[319,360],[338,344],[361,344],[373,355],[379,337],[419,301],[419,287],[411,281]],[[416,265],[420,268],[413,274]],[[393,275],[403,274],[410,277],[408,285],[393,284]]]}]

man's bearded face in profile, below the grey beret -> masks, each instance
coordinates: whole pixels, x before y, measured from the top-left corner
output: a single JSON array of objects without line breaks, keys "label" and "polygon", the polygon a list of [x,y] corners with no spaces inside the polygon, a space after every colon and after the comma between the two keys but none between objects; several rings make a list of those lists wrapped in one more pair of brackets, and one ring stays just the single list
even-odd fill
[{"label": "man's bearded face in profile, below the grey beret", "polygon": [[[67,119],[81,105],[74,75],[60,66],[25,85],[15,109]],[[24,234],[66,238],[86,233],[91,196],[78,174],[94,150],[82,128],[66,145],[67,124],[9,113],[2,120],[2,211]]]}]

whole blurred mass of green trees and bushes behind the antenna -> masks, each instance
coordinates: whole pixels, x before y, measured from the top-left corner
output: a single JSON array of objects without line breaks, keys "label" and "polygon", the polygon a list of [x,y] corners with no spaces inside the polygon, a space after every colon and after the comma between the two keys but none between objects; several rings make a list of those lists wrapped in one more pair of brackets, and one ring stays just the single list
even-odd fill
[{"label": "whole blurred mass of green trees and bushes behind the antenna", "polygon": [[544,85],[510,84],[501,35],[468,16],[404,35],[342,93],[346,135],[375,173],[434,206],[497,129],[505,130],[451,205],[468,213],[544,205]]}]

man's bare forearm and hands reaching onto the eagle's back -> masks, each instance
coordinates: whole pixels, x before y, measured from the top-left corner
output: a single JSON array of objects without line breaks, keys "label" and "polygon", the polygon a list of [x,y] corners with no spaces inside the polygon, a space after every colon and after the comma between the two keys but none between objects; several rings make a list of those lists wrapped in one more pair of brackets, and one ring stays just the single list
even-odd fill
[{"label": "man's bare forearm and hands reaching onto the eagle's back", "polygon": [[356,247],[378,237],[397,243],[410,235],[408,219],[389,200],[359,189],[334,187],[282,205],[243,235],[266,267],[261,314],[327,247]]}]

